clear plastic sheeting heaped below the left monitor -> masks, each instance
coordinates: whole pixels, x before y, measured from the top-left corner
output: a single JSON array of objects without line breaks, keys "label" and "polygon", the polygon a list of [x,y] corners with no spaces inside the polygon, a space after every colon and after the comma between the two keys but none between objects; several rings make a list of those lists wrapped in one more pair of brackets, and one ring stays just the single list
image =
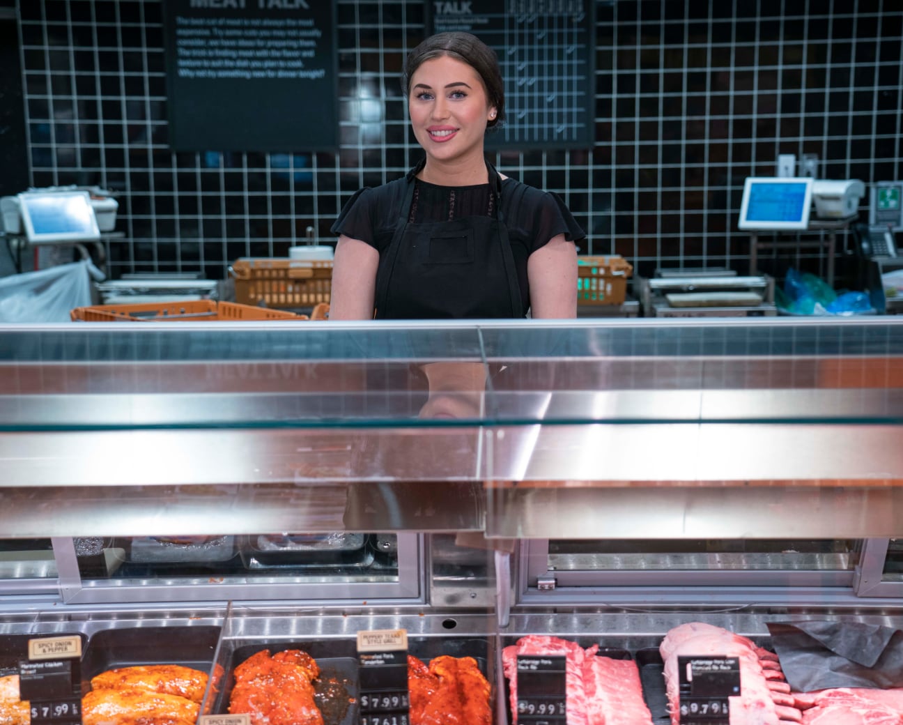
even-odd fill
[{"label": "clear plastic sheeting heaped below the left monitor", "polygon": [[91,278],[104,274],[89,259],[0,278],[0,323],[69,322],[91,304]]}]

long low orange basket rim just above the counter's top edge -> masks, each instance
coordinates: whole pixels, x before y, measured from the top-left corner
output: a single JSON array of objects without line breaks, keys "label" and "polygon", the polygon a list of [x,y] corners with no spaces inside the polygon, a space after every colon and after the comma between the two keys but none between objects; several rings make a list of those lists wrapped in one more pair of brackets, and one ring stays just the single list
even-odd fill
[{"label": "long low orange basket rim just above the counter's top edge", "polygon": [[143,302],[135,305],[95,305],[76,307],[70,312],[75,322],[209,322],[210,320],[306,320],[284,310],[192,299],[184,302]]}]

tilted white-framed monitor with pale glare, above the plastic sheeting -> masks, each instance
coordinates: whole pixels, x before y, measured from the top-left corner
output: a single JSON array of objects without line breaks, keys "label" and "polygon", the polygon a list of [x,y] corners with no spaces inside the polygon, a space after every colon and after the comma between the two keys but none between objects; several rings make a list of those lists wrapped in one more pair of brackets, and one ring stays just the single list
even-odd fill
[{"label": "tilted white-framed monitor with pale glare, above the plastic sheeting", "polygon": [[23,192],[16,197],[25,237],[31,244],[66,244],[100,239],[88,192]]}]

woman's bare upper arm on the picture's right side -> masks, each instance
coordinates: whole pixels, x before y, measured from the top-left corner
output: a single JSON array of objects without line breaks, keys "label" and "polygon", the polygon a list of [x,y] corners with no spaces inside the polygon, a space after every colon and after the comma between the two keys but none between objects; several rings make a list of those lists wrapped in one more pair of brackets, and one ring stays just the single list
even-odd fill
[{"label": "woman's bare upper arm on the picture's right side", "polygon": [[577,316],[577,245],[559,234],[526,260],[530,310],[536,319]]}]

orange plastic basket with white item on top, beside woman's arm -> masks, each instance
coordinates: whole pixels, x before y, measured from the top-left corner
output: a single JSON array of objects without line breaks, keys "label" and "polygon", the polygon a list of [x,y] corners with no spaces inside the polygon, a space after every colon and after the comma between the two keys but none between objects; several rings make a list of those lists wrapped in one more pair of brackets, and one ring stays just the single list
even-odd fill
[{"label": "orange plastic basket with white item on top, beside woman's arm", "polygon": [[312,307],[330,301],[331,259],[241,258],[229,273],[236,301],[245,305]]}]

